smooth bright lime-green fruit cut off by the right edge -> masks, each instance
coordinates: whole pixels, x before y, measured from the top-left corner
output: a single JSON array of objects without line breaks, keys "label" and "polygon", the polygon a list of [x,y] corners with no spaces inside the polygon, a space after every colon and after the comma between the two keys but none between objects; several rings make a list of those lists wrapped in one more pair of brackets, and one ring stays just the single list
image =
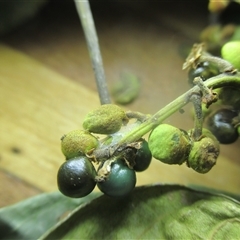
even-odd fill
[{"label": "smooth bright lime-green fruit cut off by the right edge", "polygon": [[221,54],[235,68],[240,69],[240,41],[230,41],[224,44]]}]

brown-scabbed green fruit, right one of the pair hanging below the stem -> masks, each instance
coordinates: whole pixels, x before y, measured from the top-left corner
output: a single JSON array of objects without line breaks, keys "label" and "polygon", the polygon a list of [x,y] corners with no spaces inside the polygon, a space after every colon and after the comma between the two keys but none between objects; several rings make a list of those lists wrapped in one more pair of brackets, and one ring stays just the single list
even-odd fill
[{"label": "brown-scabbed green fruit, right one of the pair hanging below the stem", "polygon": [[216,164],[220,147],[209,130],[203,129],[202,136],[199,141],[193,143],[187,165],[198,173],[207,173]]}]

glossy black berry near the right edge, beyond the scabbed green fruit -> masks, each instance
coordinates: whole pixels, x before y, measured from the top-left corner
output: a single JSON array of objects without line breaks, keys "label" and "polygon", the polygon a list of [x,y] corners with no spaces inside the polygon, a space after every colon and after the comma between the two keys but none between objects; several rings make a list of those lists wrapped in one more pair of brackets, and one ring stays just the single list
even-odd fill
[{"label": "glossy black berry near the right edge, beyond the scabbed green fruit", "polygon": [[232,124],[233,118],[237,115],[237,112],[234,110],[222,108],[216,110],[207,118],[207,128],[220,143],[230,144],[238,139],[237,128]]}]

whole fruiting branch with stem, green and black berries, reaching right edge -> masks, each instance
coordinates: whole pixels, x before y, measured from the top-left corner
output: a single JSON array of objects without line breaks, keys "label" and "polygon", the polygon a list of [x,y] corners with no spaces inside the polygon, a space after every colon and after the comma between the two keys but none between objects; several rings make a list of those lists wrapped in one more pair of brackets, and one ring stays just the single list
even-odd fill
[{"label": "whole fruiting branch with stem, green and black berries, reaching right edge", "polygon": [[[194,45],[183,69],[189,70],[188,81],[197,84],[199,90],[192,88],[153,116],[125,112],[114,104],[101,105],[87,114],[83,130],[62,137],[66,161],[59,168],[57,182],[64,195],[84,197],[97,185],[108,196],[126,196],[136,185],[136,172],[146,170],[152,157],[167,164],[186,163],[198,173],[212,169],[219,156],[219,143],[233,143],[239,137],[240,88],[225,84],[213,93],[206,86],[210,82],[205,85],[203,81],[215,76],[239,77],[239,72],[224,59],[205,53],[202,44]],[[193,129],[184,131],[162,124],[190,101],[194,104]],[[148,132],[146,141],[142,136]]]}]

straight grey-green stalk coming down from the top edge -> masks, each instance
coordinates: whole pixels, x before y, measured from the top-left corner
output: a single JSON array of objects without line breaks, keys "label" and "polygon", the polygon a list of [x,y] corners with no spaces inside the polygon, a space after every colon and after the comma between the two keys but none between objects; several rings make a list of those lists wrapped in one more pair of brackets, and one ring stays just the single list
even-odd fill
[{"label": "straight grey-green stalk coming down from the top edge", "polygon": [[110,103],[110,95],[107,88],[103,69],[103,62],[98,44],[98,37],[88,0],[74,0],[85,34],[88,51],[91,57],[95,80],[101,104]]}]

